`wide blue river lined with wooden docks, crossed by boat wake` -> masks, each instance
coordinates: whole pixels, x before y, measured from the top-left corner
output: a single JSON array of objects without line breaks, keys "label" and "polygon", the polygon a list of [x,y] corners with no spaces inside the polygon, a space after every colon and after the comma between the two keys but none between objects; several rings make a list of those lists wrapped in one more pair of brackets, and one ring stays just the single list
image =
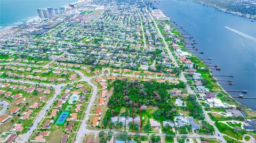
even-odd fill
[{"label": "wide blue river lined with wooden docks, crossed by boat wake", "polygon": [[[234,85],[221,85],[228,90],[248,90],[245,97],[256,97],[256,43],[226,29],[225,26],[256,37],[256,22],[241,16],[218,11],[191,1],[157,1],[155,6],[170,16],[172,21],[186,29],[203,51],[199,57],[212,57],[221,71],[213,74],[232,74]],[[218,79],[228,79],[221,78]],[[238,92],[229,92],[237,96]],[[238,99],[238,102],[256,110],[255,99]]]}]

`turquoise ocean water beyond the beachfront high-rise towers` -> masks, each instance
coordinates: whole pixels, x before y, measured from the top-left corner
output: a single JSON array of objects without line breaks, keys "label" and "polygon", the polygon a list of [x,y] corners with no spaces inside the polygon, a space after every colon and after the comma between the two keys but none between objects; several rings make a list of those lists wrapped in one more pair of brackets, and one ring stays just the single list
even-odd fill
[{"label": "turquoise ocean water beyond the beachfront high-rise towers", "polygon": [[0,28],[13,26],[37,16],[37,9],[60,7],[75,0],[1,0],[0,1]]}]

